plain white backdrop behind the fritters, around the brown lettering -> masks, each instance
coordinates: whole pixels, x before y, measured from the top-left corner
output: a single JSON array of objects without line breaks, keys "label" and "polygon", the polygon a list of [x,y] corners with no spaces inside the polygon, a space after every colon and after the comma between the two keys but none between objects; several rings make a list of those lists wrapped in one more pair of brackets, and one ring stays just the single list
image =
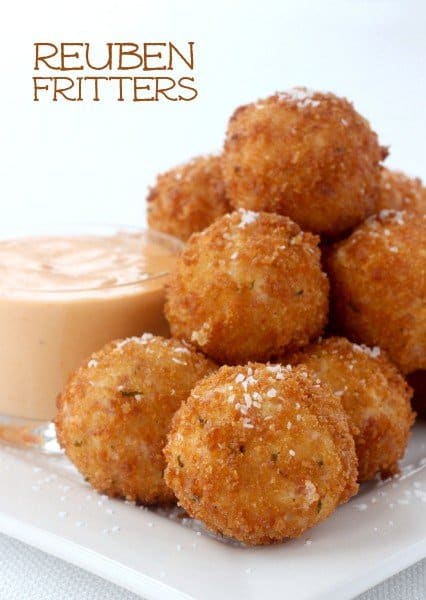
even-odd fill
[{"label": "plain white backdrop behind the fritters, around the brown lettering", "polygon": [[[0,229],[143,224],[158,171],[219,150],[236,106],[293,85],[354,101],[426,175],[426,4],[419,0],[2,1]],[[32,101],[35,41],[196,43],[193,102]]]}]

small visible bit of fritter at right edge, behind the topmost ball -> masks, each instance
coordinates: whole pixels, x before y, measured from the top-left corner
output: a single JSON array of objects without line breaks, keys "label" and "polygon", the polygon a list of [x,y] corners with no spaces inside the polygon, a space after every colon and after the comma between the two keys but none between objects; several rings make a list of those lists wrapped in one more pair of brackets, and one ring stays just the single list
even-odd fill
[{"label": "small visible bit of fritter at right edge, behind the topmost ball", "polygon": [[426,213],[426,188],[421,179],[411,178],[401,171],[381,170],[378,211],[383,208]]}]

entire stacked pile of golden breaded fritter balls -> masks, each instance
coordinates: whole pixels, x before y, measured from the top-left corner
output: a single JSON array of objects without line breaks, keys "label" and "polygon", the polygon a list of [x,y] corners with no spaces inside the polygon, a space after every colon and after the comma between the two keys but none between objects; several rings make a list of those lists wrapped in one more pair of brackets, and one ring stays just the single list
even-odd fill
[{"label": "entire stacked pile of golden breaded fritter balls", "polygon": [[150,226],[187,240],[172,339],[112,342],[58,400],[97,490],[268,544],[398,472],[404,377],[419,410],[425,385],[426,190],[386,155],[347,100],[296,88],[238,108],[220,157],[159,176]]}]

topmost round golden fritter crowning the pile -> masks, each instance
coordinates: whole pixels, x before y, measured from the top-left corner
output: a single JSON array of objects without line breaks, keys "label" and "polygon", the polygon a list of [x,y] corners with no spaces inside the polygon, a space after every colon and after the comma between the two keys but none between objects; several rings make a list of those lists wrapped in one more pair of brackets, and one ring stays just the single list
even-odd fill
[{"label": "topmost round golden fritter crowning the pile", "polygon": [[386,154],[346,99],[295,88],[234,112],[222,167],[235,208],[336,237],[376,212]]}]

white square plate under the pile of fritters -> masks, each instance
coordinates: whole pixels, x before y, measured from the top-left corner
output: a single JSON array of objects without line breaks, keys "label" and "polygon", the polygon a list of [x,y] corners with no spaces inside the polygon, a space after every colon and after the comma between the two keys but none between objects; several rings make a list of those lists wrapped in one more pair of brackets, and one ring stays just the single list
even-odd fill
[{"label": "white square plate under the pile of fritters", "polygon": [[402,464],[299,540],[244,548],[96,494],[63,456],[0,447],[0,531],[148,600],[344,600],[426,555],[425,423]]}]

